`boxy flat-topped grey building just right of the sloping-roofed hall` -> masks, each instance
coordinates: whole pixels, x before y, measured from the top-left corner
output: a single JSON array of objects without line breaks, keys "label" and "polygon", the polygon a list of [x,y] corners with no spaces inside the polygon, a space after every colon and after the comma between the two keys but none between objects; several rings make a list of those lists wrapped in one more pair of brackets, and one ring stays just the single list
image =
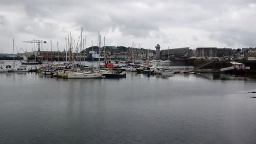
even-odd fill
[{"label": "boxy flat-topped grey building just right of the sloping-roofed hall", "polygon": [[216,57],[217,47],[197,47],[196,57]]}]

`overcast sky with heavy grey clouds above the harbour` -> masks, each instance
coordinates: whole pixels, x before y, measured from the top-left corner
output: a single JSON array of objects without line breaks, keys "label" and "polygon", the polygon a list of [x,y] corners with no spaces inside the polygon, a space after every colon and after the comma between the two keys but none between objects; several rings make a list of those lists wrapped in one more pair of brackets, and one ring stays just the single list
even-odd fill
[{"label": "overcast sky with heavy grey clouds above the harbour", "polygon": [[[72,32],[78,42],[81,28],[85,47],[98,44],[141,45],[161,50],[190,47],[256,47],[255,0],[1,0],[0,50],[32,51],[29,40],[44,40],[43,50],[66,49]],[[66,39],[65,39],[66,38]]]}]

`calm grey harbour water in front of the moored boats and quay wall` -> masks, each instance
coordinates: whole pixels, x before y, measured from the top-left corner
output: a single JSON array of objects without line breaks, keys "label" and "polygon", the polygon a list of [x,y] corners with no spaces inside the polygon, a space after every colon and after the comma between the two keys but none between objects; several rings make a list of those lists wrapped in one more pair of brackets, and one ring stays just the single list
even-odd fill
[{"label": "calm grey harbour water in front of the moored boats and quay wall", "polygon": [[0,143],[255,143],[255,79],[0,74]]}]

